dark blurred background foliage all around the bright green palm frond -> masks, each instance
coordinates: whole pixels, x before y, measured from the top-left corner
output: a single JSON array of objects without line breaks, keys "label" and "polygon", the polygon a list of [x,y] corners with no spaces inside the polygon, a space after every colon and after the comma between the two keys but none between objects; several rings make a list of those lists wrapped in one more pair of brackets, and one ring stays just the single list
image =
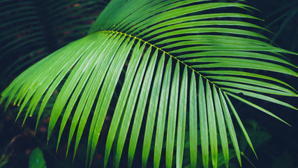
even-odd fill
[{"label": "dark blurred background foliage all around the bright green palm frond", "polygon": [[[13,78],[24,69],[51,52],[82,38],[96,20],[108,0],[1,0],[0,1],[0,90],[7,87]],[[262,32],[271,39],[271,43],[281,48],[298,52],[298,1],[297,0],[248,0],[248,5],[258,8],[260,13],[253,15],[265,22],[258,25],[273,33]],[[298,58],[288,55],[290,62],[298,64]],[[284,76],[290,85],[297,88],[297,79]],[[0,167],[20,167],[29,165],[29,157],[34,148],[43,151],[47,167],[84,167],[86,160],[85,144],[82,139],[76,160],[71,155],[65,158],[67,140],[61,140],[61,148],[56,153],[57,137],[52,135],[47,141],[47,124],[52,102],[47,104],[45,115],[34,134],[36,116],[24,127],[22,122],[14,122],[17,107],[10,107],[6,113],[0,112]],[[283,101],[297,107],[297,98],[282,97]],[[243,158],[242,167],[298,167],[298,113],[291,109],[262,102],[269,110],[292,125],[288,127],[274,118],[270,118],[251,107],[237,104],[241,109],[239,116],[244,121],[248,134],[255,146],[258,160],[247,148],[243,135],[239,134],[239,145]],[[106,120],[110,120],[107,116]],[[239,127],[236,127],[241,132]],[[108,127],[103,128],[107,134]],[[104,141],[101,136],[99,141]],[[187,139],[186,139],[187,140]],[[99,142],[100,143],[100,142]],[[186,141],[186,148],[187,148]],[[188,146],[189,148],[189,146]],[[104,146],[99,146],[92,167],[102,167]],[[71,154],[71,153],[70,153]],[[136,156],[140,157],[140,156]],[[188,165],[185,153],[185,165]],[[200,155],[199,155],[200,157]],[[239,167],[237,159],[230,154],[230,167]],[[125,156],[124,156],[125,160]],[[222,164],[221,164],[222,161]],[[223,156],[218,165],[224,167]],[[112,165],[112,164],[110,164]],[[122,164],[126,167],[126,163]],[[211,164],[210,164],[211,165]],[[22,167],[23,167],[22,166]]]}]

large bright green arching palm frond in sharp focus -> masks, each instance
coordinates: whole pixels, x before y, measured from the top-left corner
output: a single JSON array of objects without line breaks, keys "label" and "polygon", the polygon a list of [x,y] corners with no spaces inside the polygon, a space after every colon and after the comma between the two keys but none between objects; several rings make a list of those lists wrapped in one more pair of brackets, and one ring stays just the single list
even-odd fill
[{"label": "large bright green arching palm frond in sharp focus", "polygon": [[[182,167],[186,137],[191,167],[201,166],[197,165],[200,151],[204,167],[209,167],[209,153],[217,167],[219,150],[226,167],[229,151],[241,165],[235,120],[255,151],[231,98],[283,123],[255,99],[297,110],[275,98],[297,97],[282,76],[276,77],[281,73],[297,77],[297,66],[284,56],[297,54],[274,47],[257,33],[264,28],[257,25],[261,20],[250,15],[251,10],[255,8],[244,1],[112,0],[89,35],[21,73],[2,92],[0,104],[6,101],[6,109],[11,102],[21,106],[17,118],[26,108],[24,121],[40,106],[37,127],[53,92],[63,85],[52,107],[48,139],[61,116],[58,148],[71,116],[67,151],[75,136],[76,153],[91,118],[90,162],[105,117],[111,113],[105,167],[113,144],[114,164],[119,167],[128,137],[128,167],[132,166],[142,125],[142,167],[147,166],[152,144],[154,167],[160,166],[163,146],[165,166],[172,167],[175,155],[176,166]],[[111,102],[117,102],[114,108]]]}]

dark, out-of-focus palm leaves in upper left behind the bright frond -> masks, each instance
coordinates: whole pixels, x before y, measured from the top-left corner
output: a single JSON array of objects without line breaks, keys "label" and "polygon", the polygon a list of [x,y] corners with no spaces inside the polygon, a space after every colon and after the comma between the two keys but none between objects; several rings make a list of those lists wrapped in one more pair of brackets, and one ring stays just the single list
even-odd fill
[{"label": "dark, out-of-focus palm leaves in upper left behind the bright frond", "polygon": [[0,86],[51,52],[86,36],[106,3],[1,0]]}]

